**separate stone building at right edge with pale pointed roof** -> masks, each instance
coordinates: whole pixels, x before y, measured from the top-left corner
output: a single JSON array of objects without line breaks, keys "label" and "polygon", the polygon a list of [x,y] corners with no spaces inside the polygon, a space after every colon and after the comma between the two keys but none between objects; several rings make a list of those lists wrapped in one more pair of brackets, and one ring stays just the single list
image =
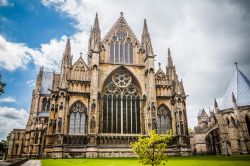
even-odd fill
[{"label": "separate stone building at right edge with pale pointed roof", "polygon": [[199,111],[191,143],[198,154],[250,153],[250,81],[236,66],[227,92],[209,115]]}]

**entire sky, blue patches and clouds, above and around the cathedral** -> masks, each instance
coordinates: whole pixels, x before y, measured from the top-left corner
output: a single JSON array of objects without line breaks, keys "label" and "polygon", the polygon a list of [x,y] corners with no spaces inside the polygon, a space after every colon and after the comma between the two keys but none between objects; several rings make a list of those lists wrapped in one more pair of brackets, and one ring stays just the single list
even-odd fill
[{"label": "entire sky, blue patches and clouds, above and around the cathedral", "polygon": [[[245,0],[0,0],[0,140],[24,128],[41,66],[59,72],[66,40],[73,61],[86,60],[90,26],[98,12],[102,37],[120,12],[141,39],[144,18],[158,62],[165,70],[170,47],[187,99],[189,127],[226,92],[234,62],[250,77],[250,3]],[[154,8],[152,8],[154,6]],[[177,12],[178,11],[178,12]],[[205,19],[204,19],[205,18]],[[220,106],[220,104],[219,104]],[[195,116],[194,116],[195,115]]]}]

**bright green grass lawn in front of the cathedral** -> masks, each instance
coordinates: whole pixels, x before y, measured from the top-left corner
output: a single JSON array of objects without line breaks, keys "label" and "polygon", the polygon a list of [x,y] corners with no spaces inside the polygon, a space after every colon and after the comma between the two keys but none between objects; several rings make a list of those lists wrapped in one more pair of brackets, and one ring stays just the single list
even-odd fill
[{"label": "bright green grass lawn in front of the cathedral", "polygon": [[[136,158],[44,159],[42,166],[142,166]],[[248,156],[169,157],[167,166],[250,166]]]}]

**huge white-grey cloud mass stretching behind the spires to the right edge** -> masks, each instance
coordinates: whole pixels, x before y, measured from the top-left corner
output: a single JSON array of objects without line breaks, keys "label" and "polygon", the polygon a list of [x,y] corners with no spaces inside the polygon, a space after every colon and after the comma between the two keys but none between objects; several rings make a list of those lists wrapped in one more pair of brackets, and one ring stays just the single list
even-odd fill
[{"label": "huge white-grey cloud mass stretching behind the spires to the right edge", "polygon": [[59,70],[67,37],[71,38],[75,60],[80,52],[87,52],[89,27],[93,24],[95,12],[99,14],[104,36],[119,17],[120,11],[124,11],[126,20],[139,39],[143,19],[147,18],[156,61],[162,62],[162,66],[167,63],[167,48],[171,48],[177,73],[179,78],[183,78],[189,95],[187,114],[190,127],[197,124],[196,115],[200,108],[208,108],[213,104],[214,97],[223,96],[233,75],[235,61],[246,75],[250,75],[250,7],[247,1],[42,2],[74,18],[78,31],[72,36],[51,39],[37,49],[0,37],[0,56],[3,56],[0,67],[13,71],[25,68],[32,61],[45,68]]}]

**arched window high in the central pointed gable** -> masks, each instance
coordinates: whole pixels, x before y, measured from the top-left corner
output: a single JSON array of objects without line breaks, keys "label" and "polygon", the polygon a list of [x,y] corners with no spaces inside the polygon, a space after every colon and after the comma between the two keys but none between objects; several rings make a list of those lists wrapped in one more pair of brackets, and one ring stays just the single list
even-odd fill
[{"label": "arched window high in the central pointed gable", "polygon": [[110,43],[110,62],[132,64],[133,44],[127,32],[118,31]]}]

